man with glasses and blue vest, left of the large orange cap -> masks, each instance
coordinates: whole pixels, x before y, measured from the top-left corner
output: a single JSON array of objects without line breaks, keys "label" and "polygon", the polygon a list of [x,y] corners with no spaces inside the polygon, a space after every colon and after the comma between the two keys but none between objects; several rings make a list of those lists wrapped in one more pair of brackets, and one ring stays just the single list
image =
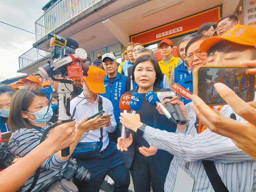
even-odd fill
[{"label": "man with glasses and blue vest, left of the large orange cap", "polygon": [[[192,71],[193,71],[193,68],[196,66],[206,65],[207,53],[201,52],[199,49],[199,46],[203,42],[203,40],[208,37],[210,36],[204,36],[204,35],[196,36],[188,42],[185,48],[188,66]],[[192,72],[186,78],[183,78],[178,84],[181,85],[182,87],[185,87],[188,91],[193,92]],[[184,97],[181,97],[181,101],[185,105],[191,102],[191,100],[187,100]]]}]

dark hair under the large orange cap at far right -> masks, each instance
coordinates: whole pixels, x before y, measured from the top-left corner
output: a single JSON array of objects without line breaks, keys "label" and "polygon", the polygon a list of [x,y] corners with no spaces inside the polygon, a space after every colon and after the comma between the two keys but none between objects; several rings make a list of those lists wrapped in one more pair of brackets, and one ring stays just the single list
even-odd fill
[{"label": "dark hair under the large orange cap at far right", "polygon": [[216,51],[221,52],[221,53],[230,53],[230,52],[235,52],[235,51],[244,51],[244,50],[252,50],[252,57],[248,58],[248,60],[255,60],[256,59],[256,48],[254,46],[249,46],[249,45],[243,45],[243,44],[237,44],[233,43],[230,41],[220,41],[219,43],[213,45],[209,50],[208,50],[208,56],[210,56],[211,53],[215,53]]}]

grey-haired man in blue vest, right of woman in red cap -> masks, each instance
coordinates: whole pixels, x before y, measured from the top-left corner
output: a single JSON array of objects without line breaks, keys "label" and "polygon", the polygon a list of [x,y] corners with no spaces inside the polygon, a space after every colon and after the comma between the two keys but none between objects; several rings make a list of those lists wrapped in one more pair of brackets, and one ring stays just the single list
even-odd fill
[{"label": "grey-haired man in blue vest, right of woman in red cap", "polygon": [[171,82],[170,82],[171,86],[174,83],[178,83],[183,78],[186,78],[191,72],[191,69],[188,67],[188,61],[186,60],[185,48],[188,42],[194,37],[196,37],[194,34],[189,34],[181,38],[180,41],[178,41],[178,50],[183,62],[172,70]]}]

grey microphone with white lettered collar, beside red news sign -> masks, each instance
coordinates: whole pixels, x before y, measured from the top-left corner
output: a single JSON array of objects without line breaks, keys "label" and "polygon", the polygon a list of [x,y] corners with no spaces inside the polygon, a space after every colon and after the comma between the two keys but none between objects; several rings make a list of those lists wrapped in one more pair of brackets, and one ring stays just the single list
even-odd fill
[{"label": "grey microphone with white lettered collar, beside red news sign", "polygon": [[[157,96],[158,99],[162,102],[164,99],[172,99],[176,95],[171,91],[171,89],[160,89],[160,91],[157,93]],[[183,125],[187,123],[187,120],[178,104],[172,105],[172,103],[167,102],[165,105],[175,120],[176,124],[179,123],[180,125]]]}]

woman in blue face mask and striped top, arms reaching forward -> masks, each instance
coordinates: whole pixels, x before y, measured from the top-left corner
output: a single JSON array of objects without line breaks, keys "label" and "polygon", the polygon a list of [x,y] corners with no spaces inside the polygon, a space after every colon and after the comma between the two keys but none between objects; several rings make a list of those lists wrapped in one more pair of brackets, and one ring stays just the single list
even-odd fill
[{"label": "woman in blue face mask and striped top, arms reaching forward", "polygon": [[[38,89],[22,89],[17,91],[12,97],[10,108],[9,123],[14,132],[11,139],[19,142],[19,147],[12,148],[11,152],[23,157],[39,145],[43,131],[48,127],[48,121],[53,115],[52,107],[49,106],[49,101],[44,92]],[[88,116],[84,117],[77,124],[76,131],[75,121],[59,125],[63,126],[63,129],[67,126],[72,127],[70,134],[72,137],[75,135],[75,141],[70,146],[70,155],[62,157],[61,151],[58,151],[44,161],[41,165],[41,172],[36,187],[32,191],[36,191],[42,183],[47,182],[52,176],[59,176],[80,137],[84,132],[96,129],[92,126],[92,123],[98,121],[99,116],[89,121],[87,119]],[[33,180],[34,174],[23,185],[22,191],[27,191]]]}]

